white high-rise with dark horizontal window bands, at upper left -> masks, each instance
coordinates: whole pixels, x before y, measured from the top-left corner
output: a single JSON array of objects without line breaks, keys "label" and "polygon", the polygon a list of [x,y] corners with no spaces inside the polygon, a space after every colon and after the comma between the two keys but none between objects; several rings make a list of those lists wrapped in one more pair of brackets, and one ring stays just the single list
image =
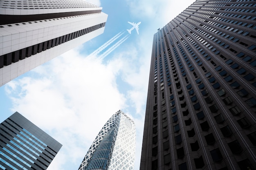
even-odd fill
[{"label": "white high-rise with dark horizontal window bands, at upper left", "polygon": [[101,9],[84,0],[0,1],[0,86],[103,33]]}]

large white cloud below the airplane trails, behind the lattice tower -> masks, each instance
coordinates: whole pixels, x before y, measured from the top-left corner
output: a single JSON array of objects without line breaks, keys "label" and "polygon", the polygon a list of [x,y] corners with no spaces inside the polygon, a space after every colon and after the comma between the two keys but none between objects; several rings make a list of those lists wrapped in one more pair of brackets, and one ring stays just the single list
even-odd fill
[{"label": "large white cloud below the airplane trails, behind the lattice tower", "polygon": [[[117,89],[117,70],[73,49],[31,74],[7,84],[18,111],[63,144],[49,170],[80,165],[92,141],[126,98]],[[66,165],[65,165],[66,166]]]}]

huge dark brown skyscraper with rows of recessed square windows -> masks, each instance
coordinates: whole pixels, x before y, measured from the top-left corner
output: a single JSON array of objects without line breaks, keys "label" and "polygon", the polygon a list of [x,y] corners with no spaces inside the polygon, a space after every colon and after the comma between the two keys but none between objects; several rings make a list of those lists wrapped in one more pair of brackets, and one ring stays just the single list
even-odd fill
[{"label": "huge dark brown skyscraper with rows of recessed square windows", "polygon": [[255,20],[255,0],[196,0],[155,33],[141,170],[255,170]]}]

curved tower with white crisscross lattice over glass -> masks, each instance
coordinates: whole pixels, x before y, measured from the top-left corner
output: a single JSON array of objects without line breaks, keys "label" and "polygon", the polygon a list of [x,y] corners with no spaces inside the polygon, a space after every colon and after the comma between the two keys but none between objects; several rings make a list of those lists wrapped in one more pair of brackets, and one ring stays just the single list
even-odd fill
[{"label": "curved tower with white crisscross lattice over glass", "polygon": [[79,170],[133,170],[135,124],[121,110],[103,126]]}]

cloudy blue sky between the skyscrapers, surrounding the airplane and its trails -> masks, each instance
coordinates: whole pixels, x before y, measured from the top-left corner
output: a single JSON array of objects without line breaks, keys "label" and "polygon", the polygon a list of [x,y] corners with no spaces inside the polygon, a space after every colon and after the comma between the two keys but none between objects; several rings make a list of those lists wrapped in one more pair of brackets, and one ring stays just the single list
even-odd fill
[{"label": "cloudy blue sky between the skyscrapers, surrounding the airplane and its trails", "polygon": [[[48,170],[76,170],[99,130],[121,109],[137,128],[138,170],[153,35],[193,0],[90,1],[108,14],[104,33],[0,87],[0,121],[18,111],[63,144]],[[139,35],[128,34],[128,21],[141,22]],[[115,42],[128,39],[104,59],[87,57],[122,31]]]}]

